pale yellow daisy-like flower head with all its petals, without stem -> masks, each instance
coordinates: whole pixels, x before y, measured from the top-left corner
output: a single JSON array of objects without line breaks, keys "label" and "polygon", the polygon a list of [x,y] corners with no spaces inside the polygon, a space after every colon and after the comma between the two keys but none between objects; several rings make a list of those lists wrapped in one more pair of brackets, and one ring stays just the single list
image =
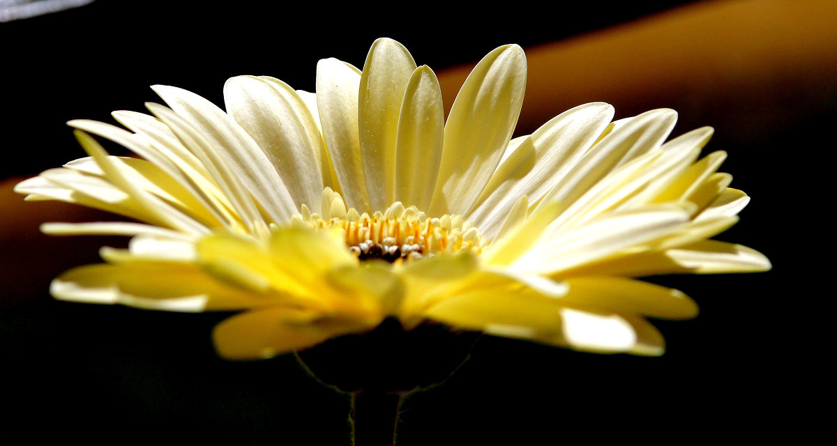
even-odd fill
[{"label": "pale yellow daisy-like flower head with all its petals, without stem", "polygon": [[[710,240],[749,198],[727,187],[712,130],[665,141],[673,110],[611,122],[567,110],[511,139],[526,84],[516,45],[471,72],[444,120],[439,82],[401,44],[362,70],[317,65],[316,95],[239,76],[227,111],[171,86],[168,107],[117,111],[128,130],[69,122],[89,157],[21,182],[30,200],[75,202],[142,223],[44,223],[121,234],[104,264],[71,269],[58,299],[156,310],[242,310],[220,355],[270,357],[425,320],[577,350],[658,355],[645,317],[691,318],[649,274],[762,271],[768,259]],[[142,159],[110,156],[90,135]]]}]

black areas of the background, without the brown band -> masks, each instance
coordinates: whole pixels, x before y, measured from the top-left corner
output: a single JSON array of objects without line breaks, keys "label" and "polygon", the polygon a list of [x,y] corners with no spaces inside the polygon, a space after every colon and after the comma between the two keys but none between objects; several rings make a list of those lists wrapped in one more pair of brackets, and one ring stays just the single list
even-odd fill
[{"label": "black areas of the background, without the brown band", "polygon": [[[362,66],[382,36],[439,71],[501,44],[526,48],[680,3],[686,2],[544,11],[523,3],[457,9],[99,0],[0,23],[0,178],[83,156],[64,122],[112,122],[110,110],[143,110],[143,102],[159,101],[148,85],[181,86],[216,104],[223,103],[224,80],[237,74],[270,74],[313,90],[318,59]],[[652,279],[701,305],[696,320],[655,322],[668,343],[661,357],[599,356],[485,336],[448,382],[405,402],[398,444],[563,443],[578,435],[588,443],[736,441],[801,429],[804,422],[792,417],[800,412],[795,398],[815,379],[798,350],[813,330],[802,321],[833,295],[805,285],[817,283],[810,246],[830,244],[830,238],[809,242],[825,227],[823,209],[811,208],[807,196],[833,192],[816,192],[824,182],[816,169],[834,149],[828,133],[837,116],[834,85],[822,87],[807,99],[816,103],[808,114],[788,115],[782,125],[756,120],[743,134],[724,120],[709,146],[730,152],[722,170],[735,176],[732,187],[753,197],[742,223],[718,238],[762,251],[773,271]],[[617,117],[632,111],[631,104],[614,105]],[[693,122],[689,110],[680,110],[675,134],[731,113],[712,104],[696,110],[706,121]],[[781,118],[783,110],[771,115]],[[293,356],[256,362],[215,356],[209,335],[225,315],[67,304],[44,290],[0,306],[0,404],[13,412],[0,418],[4,437],[348,443],[348,397],[308,377]]]}]

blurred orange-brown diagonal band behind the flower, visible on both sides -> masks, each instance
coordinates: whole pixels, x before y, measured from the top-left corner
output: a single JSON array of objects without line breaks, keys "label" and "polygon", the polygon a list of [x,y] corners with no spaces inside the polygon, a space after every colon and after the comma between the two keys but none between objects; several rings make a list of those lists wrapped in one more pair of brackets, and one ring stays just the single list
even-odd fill
[{"label": "blurred orange-brown diagonal band behind the flower, visible on both sides", "polygon": [[[518,134],[594,100],[614,104],[617,117],[667,106],[680,111],[686,126],[734,127],[751,137],[792,126],[834,106],[835,23],[833,0],[707,2],[527,49]],[[470,66],[439,73],[446,106]],[[45,221],[105,216],[64,203],[23,202],[12,192],[20,179],[0,184],[0,305],[43,295],[55,274],[95,261],[99,246],[114,243],[40,234]]]}]

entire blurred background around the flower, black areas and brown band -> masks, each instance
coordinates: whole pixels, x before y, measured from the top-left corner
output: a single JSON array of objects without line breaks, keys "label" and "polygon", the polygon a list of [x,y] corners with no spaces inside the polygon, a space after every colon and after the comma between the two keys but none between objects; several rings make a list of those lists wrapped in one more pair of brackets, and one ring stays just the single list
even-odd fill
[{"label": "entire blurred background around the flower, black areas and brown band", "polygon": [[4,435],[348,443],[348,397],[308,377],[293,356],[215,356],[211,329],[226,315],[52,300],[55,274],[125,241],[40,235],[44,221],[109,217],[24,203],[11,187],[84,156],[64,122],[113,123],[111,110],[144,110],[160,101],[148,85],[177,85],[218,105],[223,82],[238,74],[314,90],[318,59],[360,67],[378,37],[429,64],[448,106],[475,61],[521,44],[529,84],[518,135],[592,100],[613,104],[616,118],[678,110],[673,135],[715,127],[706,151],[726,150],[721,170],[752,197],[741,223],[717,238],[773,261],[763,274],[651,278],[701,305],[696,320],[655,322],[665,356],[597,356],[484,336],[448,382],[404,403],[399,445],[578,435],[798,440],[815,423],[800,398],[816,392],[821,372],[801,348],[820,330],[809,322],[823,294],[814,251],[831,244],[814,234],[824,227],[819,202],[834,190],[825,158],[837,117],[837,3],[96,0],[31,18],[13,17],[12,3],[0,3],[0,401],[13,412],[0,421]]}]

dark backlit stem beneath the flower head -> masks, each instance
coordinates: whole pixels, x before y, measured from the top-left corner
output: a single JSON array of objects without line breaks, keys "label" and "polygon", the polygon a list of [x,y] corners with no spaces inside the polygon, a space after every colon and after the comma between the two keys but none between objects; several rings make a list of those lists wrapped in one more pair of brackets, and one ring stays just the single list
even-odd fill
[{"label": "dark backlit stem beneath the flower head", "polygon": [[393,446],[401,393],[357,391],[352,393],[352,444]]}]

